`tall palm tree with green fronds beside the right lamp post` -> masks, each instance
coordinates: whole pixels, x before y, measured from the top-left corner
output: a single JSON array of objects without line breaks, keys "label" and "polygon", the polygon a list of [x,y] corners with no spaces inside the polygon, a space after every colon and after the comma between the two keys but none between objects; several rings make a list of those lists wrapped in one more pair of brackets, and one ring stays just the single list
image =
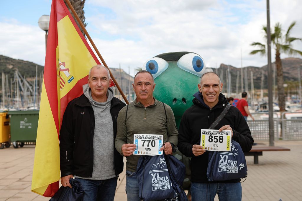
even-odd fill
[{"label": "tall palm tree with green fronds beside the right lamp post", "polygon": [[[280,53],[288,53],[289,55],[293,54],[300,54],[302,52],[292,48],[291,42],[295,40],[301,40],[301,38],[295,38],[290,36],[291,29],[295,26],[296,22],[292,22],[291,25],[288,27],[287,32],[285,35],[282,35],[281,24],[276,23],[274,27],[274,33],[271,33],[271,42],[276,50],[275,59],[276,59],[276,70],[277,70],[277,89],[278,89],[278,103],[280,107],[280,111],[285,111],[285,96],[284,96],[284,87],[283,87],[283,69],[282,69],[282,62],[280,58]],[[267,38],[267,27],[263,26],[262,30],[265,31],[265,38]],[[260,55],[265,55],[265,45],[260,42],[253,42],[251,46],[259,47],[258,50],[254,50],[250,52],[251,55],[260,53]]]}]

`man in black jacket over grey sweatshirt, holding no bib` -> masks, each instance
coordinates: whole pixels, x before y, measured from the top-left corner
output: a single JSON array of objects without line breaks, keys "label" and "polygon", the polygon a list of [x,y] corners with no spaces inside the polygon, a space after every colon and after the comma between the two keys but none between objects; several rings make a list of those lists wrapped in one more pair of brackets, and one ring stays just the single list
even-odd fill
[{"label": "man in black jacket over grey sweatshirt, holding no bib", "polygon": [[60,130],[61,183],[69,179],[82,184],[83,200],[114,200],[117,177],[124,163],[114,147],[117,115],[125,106],[114,97],[106,67],[91,68],[84,94],[66,107]]}]

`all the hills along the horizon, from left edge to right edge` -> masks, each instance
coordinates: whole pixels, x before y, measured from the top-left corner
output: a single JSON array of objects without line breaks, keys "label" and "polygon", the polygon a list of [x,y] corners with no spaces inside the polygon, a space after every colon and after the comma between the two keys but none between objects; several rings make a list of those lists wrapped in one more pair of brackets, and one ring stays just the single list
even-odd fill
[{"label": "all the hills along the horizon, from left edge to right edge", "polygon": [[[38,66],[38,79],[40,73],[43,71],[44,67],[41,65]],[[282,66],[283,66],[283,76],[284,76],[284,82],[287,81],[298,81],[298,73],[297,68],[299,66],[302,66],[302,59],[300,58],[285,58],[282,59]],[[272,67],[275,67],[275,62],[272,63]],[[4,72],[8,75],[8,80],[10,78],[14,78],[14,72],[15,69],[18,68],[18,71],[22,76],[25,76],[27,80],[31,77],[35,77],[36,74],[36,64],[31,61],[24,61],[21,59],[13,59],[7,56],[0,55],[0,72]],[[224,90],[226,90],[226,73],[227,73],[228,65],[226,64],[220,64],[220,67],[217,69],[218,75],[221,77],[221,81],[224,83]],[[248,77],[248,87],[249,90],[251,88],[251,71],[253,72],[254,77],[254,88],[260,89],[261,86],[261,74],[262,70],[264,71],[264,89],[268,88],[267,85],[267,65],[262,67],[255,67],[255,66],[247,66],[243,68],[243,73],[247,69],[247,77]],[[123,92],[125,94],[132,93],[132,83],[133,83],[133,77],[129,76],[123,69],[120,68],[110,68],[111,73],[113,74],[114,78],[119,83],[120,87],[122,88]],[[213,68],[214,72],[216,72],[216,69]],[[302,69],[301,69],[302,70]],[[230,74],[231,74],[231,88],[232,92],[236,91],[236,80],[237,80],[237,72],[239,72],[239,92],[241,91],[241,69],[231,66],[230,65]],[[221,76],[223,74],[223,76]],[[0,80],[1,80],[0,75]],[[276,79],[277,82],[277,79]],[[1,83],[1,81],[0,81]],[[244,84],[244,80],[243,80]],[[115,92],[118,94],[117,90]]]}]

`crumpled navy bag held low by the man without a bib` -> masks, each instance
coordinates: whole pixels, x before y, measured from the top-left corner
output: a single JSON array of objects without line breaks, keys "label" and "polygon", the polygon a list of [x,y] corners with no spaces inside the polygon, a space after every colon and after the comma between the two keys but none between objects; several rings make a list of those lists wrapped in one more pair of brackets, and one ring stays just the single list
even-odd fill
[{"label": "crumpled navy bag held low by the man without a bib", "polygon": [[49,201],[82,201],[83,187],[74,179],[69,180],[72,188],[61,186]]}]

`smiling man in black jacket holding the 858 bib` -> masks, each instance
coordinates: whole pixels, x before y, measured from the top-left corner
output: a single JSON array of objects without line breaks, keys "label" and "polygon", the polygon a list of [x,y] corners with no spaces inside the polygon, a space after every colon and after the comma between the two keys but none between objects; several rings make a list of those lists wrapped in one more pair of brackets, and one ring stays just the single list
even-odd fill
[{"label": "smiling man in black jacket holding the 858 bib", "polygon": [[[193,105],[185,111],[179,126],[178,149],[191,159],[192,200],[241,200],[240,179],[209,182],[207,180],[208,152],[200,145],[201,129],[208,129],[227,105],[221,94],[222,83],[216,73],[203,74],[195,93]],[[231,106],[215,129],[230,130],[232,140],[238,142],[243,152],[248,152],[254,142],[249,126],[240,111]]]}]

